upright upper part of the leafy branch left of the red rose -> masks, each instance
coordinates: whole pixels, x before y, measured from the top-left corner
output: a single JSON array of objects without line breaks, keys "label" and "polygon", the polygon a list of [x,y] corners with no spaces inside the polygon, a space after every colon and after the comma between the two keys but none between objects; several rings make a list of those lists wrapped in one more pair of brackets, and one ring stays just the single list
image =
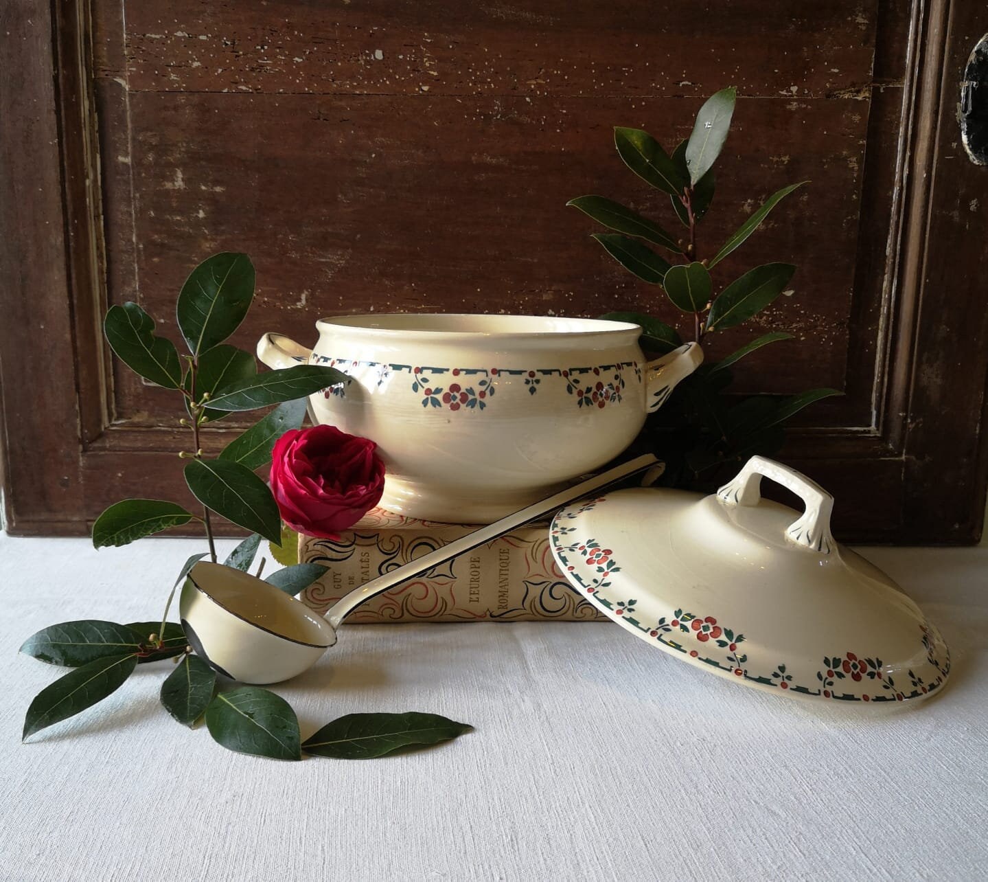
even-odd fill
[{"label": "upright upper part of the leafy branch left of the red rose", "polygon": [[[154,333],[155,322],[137,304],[109,309],[107,340],[117,356],[142,379],[183,397],[188,413],[180,425],[192,432],[186,484],[203,506],[202,516],[161,499],[125,499],[111,505],[93,525],[96,548],[125,545],[190,521],[203,524],[209,558],[216,560],[213,516],[225,518],[278,543],[281,522],[271,490],[254,472],[271,461],[278,436],[298,428],[304,398],[348,378],[335,368],[298,365],[258,374],[254,356],[224,341],[243,321],[254,299],[254,266],[246,254],[214,254],[197,266],[179,294],[176,318],[189,348]],[[184,364],[184,367],[183,367]],[[301,406],[297,401],[302,399]],[[283,404],[227,445],[217,458],[203,451],[203,428],[234,410]]]}]

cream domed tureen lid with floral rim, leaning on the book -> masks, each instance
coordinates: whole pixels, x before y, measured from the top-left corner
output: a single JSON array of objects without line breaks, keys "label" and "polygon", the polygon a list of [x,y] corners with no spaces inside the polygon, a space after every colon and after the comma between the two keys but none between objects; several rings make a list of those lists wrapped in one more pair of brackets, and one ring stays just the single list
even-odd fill
[{"label": "cream domed tureen lid with floral rim, leaning on the book", "polygon": [[[800,496],[762,499],[763,477]],[[824,701],[925,698],[947,680],[940,632],[830,533],[833,497],[763,457],[703,496],[617,490],[560,511],[552,554],[622,628],[748,686]]]}]

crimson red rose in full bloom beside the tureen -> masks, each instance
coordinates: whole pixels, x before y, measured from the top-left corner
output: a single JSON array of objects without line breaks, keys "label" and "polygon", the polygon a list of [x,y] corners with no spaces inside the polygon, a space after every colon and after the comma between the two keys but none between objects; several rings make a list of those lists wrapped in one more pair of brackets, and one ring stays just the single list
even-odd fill
[{"label": "crimson red rose in full bloom beside the tureen", "polygon": [[271,490],[299,533],[333,539],[380,501],[384,464],[367,438],[335,426],[290,429],[271,454]]}]

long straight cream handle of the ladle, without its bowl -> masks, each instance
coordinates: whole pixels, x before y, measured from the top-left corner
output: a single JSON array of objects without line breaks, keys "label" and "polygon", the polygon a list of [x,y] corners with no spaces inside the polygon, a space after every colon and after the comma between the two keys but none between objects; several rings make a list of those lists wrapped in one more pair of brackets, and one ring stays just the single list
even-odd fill
[{"label": "long straight cream handle of the ladle, without its bowl", "polygon": [[488,542],[493,542],[499,536],[510,533],[512,530],[516,530],[529,523],[529,521],[534,521],[536,518],[543,517],[557,508],[569,505],[583,496],[588,496],[591,493],[606,489],[610,485],[617,484],[617,482],[623,481],[631,475],[651,468],[657,462],[658,458],[652,454],[636,457],[594,478],[589,478],[577,485],[560,490],[558,493],[554,493],[540,502],[534,502],[521,511],[516,511],[514,514],[509,514],[499,521],[494,521],[493,524],[488,524],[486,527],[481,527],[479,530],[467,533],[449,545],[444,545],[442,548],[423,555],[421,558],[417,558],[396,570],[392,570],[390,573],[378,575],[377,578],[371,579],[367,584],[355,588],[349,594],[337,600],[329,612],[326,613],[326,619],[330,625],[336,628],[343,619],[350,615],[365,600],[370,600],[371,597],[377,596],[377,594],[386,591],[388,588],[393,588],[395,585],[414,578],[416,575],[428,573],[433,567],[445,564],[457,555],[464,554]]}]

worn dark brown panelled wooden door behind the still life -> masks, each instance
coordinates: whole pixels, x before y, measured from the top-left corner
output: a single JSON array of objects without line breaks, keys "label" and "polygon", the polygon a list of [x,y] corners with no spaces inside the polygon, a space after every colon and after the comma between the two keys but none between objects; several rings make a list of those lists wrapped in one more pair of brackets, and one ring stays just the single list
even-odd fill
[{"label": "worn dark brown panelled wooden door behind the still life", "polygon": [[715,335],[710,356],[789,330],[738,389],[845,391],[804,412],[783,454],[834,490],[841,538],[976,540],[988,170],[955,118],[978,5],[7,0],[7,529],[80,534],[126,495],[185,493],[173,396],[113,364],[100,319],[136,300],[177,336],[177,292],[215,251],[257,266],[234,340],[248,349],[370,309],[676,323],[564,204],[600,193],[675,222],[612,127],[671,148],[735,85],[707,247],[773,191],[812,184],[724,261],[791,260],[794,296]]}]

